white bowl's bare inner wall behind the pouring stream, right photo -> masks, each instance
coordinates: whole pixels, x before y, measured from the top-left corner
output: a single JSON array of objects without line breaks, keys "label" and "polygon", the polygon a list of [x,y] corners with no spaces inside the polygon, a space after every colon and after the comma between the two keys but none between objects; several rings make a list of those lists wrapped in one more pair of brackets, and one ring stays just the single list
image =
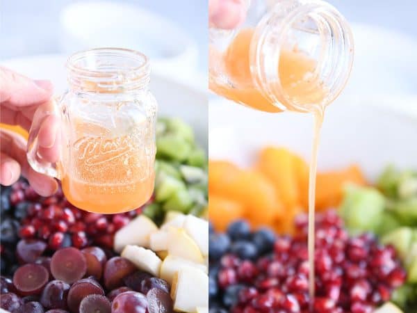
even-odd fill
[{"label": "white bowl's bare inner wall behind the pouring stream, right photo", "polygon": [[[400,101],[395,99],[391,108]],[[208,118],[208,151],[213,159],[250,166],[265,145],[288,147],[310,159],[311,115],[263,113],[213,100]],[[329,106],[325,116],[318,167],[337,169],[358,163],[369,179],[375,179],[389,163],[417,168],[416,138],[417,115],[379,106],[377,99],[340,100]]]}]

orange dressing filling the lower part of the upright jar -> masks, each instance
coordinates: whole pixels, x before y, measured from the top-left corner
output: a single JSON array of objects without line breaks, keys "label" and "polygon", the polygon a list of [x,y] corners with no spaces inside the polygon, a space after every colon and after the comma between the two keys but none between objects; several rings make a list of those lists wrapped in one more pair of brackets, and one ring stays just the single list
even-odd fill
[{"label": "orange dressing filling the lower part of the upright jar", "polygon": [[86,211],[114,214],[136,209],[154,191],[152,149],[141,143],[137,130],[112,136],[99,128],[77,127],[76,133],[90,129],[95,135],[76,134],[61,179],[63,192],[67,200]]}]

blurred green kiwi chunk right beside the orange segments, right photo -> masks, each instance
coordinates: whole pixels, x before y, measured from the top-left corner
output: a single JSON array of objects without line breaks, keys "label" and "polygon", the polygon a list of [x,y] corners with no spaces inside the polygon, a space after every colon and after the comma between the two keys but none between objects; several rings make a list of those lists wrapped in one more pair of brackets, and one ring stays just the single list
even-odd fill
[{"label": "blurred green kiwi chunk right beside the orange segments, right photo", "polygon": [[346,188],[340,214],[351,234],[376,232],[384,204],[384,196],[375,188],[350,185]]}]

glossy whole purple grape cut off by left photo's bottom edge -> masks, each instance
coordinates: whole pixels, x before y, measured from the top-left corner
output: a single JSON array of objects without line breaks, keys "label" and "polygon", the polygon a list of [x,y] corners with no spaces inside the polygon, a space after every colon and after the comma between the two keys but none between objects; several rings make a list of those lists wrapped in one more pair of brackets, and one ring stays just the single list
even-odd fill
[{"label": "glossy whole purple grape cut off by left photo's bottom edge", "polygon": [[118,295],[111,304],[111,313],[146,313],[147,299],[136,291]]}]

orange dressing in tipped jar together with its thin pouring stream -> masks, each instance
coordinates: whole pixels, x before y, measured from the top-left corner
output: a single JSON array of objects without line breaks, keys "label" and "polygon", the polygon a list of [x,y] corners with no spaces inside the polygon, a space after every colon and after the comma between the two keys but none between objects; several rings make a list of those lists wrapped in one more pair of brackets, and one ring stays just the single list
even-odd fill
[{"label": "orange dressing in tipped jar together with its thin pouring stream", "polygon": [[[228,99],[245,104],[253,109],[277,113],[277,106],[256,87],[250,72],[250,44],[254,31],[244,29],[240,31],[229,45],[223,58],[224,74],[229,78],[231,86],[219,85],[211,81],[210,88],[215,93]],[[325,106],[322,105],[327,88],[321,81],[311,79],[316,68],[316,61],[308,58],[301,51],[281,49],[279,55],[278,77],[281,89],[286,93],[275,95],[281,104],[286,105],[288,111],[308,111],[313,114],[314,133],[309,170],[309,295],[314,298],[314,214],[316,201],[316,172],[320,129],[324,118]],[[297,108],[291,106],[297,104]],[[301,110],[302,109],[302,110]],[[311,309],[313,302],[310,303]]]}]

